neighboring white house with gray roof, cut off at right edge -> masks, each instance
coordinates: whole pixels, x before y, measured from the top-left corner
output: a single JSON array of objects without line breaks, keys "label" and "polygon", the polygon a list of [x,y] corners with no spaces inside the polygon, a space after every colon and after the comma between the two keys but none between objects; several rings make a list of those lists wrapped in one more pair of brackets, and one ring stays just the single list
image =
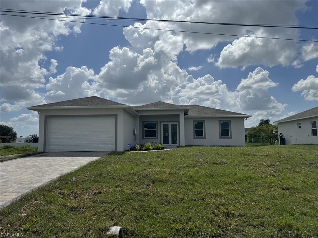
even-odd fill
[{"label": "neighboring white house with gray roof, cut off at right edge", "polygon": [[[278,120],[278,133],[285,137],[285,144],[318,144],[318,107]],[[279,140],[280,142],[280,140]]]}]

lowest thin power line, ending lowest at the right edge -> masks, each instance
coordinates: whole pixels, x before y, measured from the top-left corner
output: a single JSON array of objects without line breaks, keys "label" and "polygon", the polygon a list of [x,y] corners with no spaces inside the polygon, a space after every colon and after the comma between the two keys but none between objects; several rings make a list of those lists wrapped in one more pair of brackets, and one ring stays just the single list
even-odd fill
[{"label": "lowest thin power line, ending lowest at the right edge", "polygon": [[[26,16],[21,16],[21,15],[10,15],[10,14],[3,14],[3,13],[1,13],[0,15],[13,16],[13,17],[26,17]],[[263,38],[263,39],[275,39],[275,40],[318,42],[318,41],[314,41],[314,40],[299,40],[299,39],[273,38],[273,37],[262,37],[262,36],[242,36],[242,35],[220,34],[220,33],[210,33],[210,32],[185,31],[185,30],[168,30],[168,29],[157,29],[157,28],[149,28],[149,27],[123,26],[123,25],[113,25],[113,24],[105,24],[105,23],[78,22],[78,21],[50,19],[50,18],[43,18],[43,17],[30,17],[30,16],[27,16],[27,17],[28,18],[35,18],[35,19],[45,19],[45,20],[55,20],[55,21],[63,21],[63,22],[75,22],[75,23],[86,23],[86,24],[105,25],[105,26],[129,27],[129,28],[147,29],[147,30],[163,30],[163,31],[172,31],[172,32],[197,33],[197,34],[219,35],[219,36],[240,36],[240,37],[252,37],[252,38]]]}]

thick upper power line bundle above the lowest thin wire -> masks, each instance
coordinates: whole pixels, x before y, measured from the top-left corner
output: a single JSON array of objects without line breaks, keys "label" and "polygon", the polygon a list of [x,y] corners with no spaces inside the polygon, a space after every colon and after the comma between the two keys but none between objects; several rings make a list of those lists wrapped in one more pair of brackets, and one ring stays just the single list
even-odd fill
[{"label": "thick upper power line bundle above the lowest thin wire", "polygon": [[240,23],[216,23],[216,22],[196,22],[196,21],[179,21],[179,20],[162,20],[162,19],[148,19],[148,18],[133,18],[133,17],[109,17],[109,16],[96,16],[96,15],[82,15],[82,14],[70,14],[70,13],[56,13],[56,12],[45,12],[45,11],[24,11],[16,9],[0,10],[3,12],[13,13],[36,13],[41,15],[58,15],[58,16],[77,16],[77,17],[98,17],[106,19],[129,19],[129,20],[142,20],[142,21],[158,21],[158,22],[175,22],[175,23],[201,23],[201,24],[214,24],[214,25],[232,25],[232,26],[254,26],[254,27],[275,27],[275,28],[296,28],[296,29],[314,29],[318,30],[318,27],[305,27],[305,26],[287,26],[287,25],[270,25],[270,24],[240,24]]}]

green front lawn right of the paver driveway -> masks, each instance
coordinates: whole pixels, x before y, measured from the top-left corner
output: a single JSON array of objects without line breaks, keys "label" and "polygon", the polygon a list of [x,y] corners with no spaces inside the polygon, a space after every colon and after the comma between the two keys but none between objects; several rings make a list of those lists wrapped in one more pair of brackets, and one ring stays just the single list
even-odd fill
[{"label": "green front lawn right of the paver driveway", "polygon": [[105,237],[117,225],[124,237],[317,237],[317,178],[314,145],[113,153],[3,208],[1,232]]}]

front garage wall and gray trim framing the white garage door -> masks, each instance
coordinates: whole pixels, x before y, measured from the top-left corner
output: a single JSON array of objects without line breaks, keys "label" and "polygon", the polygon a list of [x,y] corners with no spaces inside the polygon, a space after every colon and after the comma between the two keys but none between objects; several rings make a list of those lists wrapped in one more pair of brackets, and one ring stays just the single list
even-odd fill
[{"label": "front garage wall and gray trim framing the white garage door", "polygon": [[[85,116],[85,115],[117,115],[117,151],[124,150],[124,119],[123,119],[124,110],[123,109],[55,109],[55,110],[41,110],[39,112],[39,144],[38,144],[38,151],[44,151],[44,143],[46,137],[46,120],[48,116]],[[128,114],[129,115],[129,114]],[[131,115],[129,115],[131,116]],[[127,116],[126,116],[127,117]],[[131,116],[132,117],[132,116]],[[129,119],[127,119],[129,121]],[[126,119],[125,119],[126,122]],[[127,146],[127,145],[126,145]],[[45,151],[44,151],[45,152]]]}]

